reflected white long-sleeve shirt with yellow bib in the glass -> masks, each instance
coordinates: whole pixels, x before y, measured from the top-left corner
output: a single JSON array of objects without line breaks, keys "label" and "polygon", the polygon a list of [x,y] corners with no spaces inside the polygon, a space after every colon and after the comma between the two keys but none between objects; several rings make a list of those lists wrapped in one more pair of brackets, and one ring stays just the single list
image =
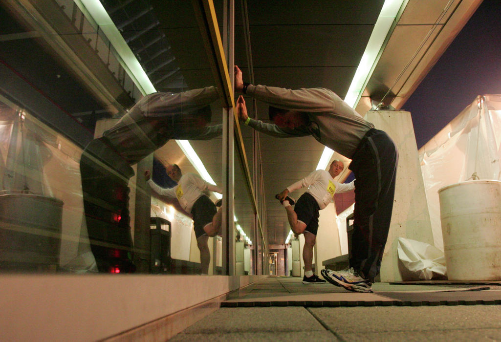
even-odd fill
[{"label": "reflected white long-sleeve shirt with yellow bib in the glass", "polygon": [[221,188],[210,184],[194,173],[182,175],[177,185],[172,188],[162,188],[155,184],[152,179],[148,180],[148,184],[153,191],[160,195],[176,197],[181,207],[189,213],[191,213],[191,208],[196,200],[200,196],[205,195],[206,191],[215,191],[222,194]]}]

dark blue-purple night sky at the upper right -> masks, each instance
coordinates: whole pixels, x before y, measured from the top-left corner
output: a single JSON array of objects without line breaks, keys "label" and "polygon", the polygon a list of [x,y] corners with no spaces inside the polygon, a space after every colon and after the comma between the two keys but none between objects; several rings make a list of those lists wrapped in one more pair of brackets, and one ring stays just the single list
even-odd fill
[{"label": "dark blue-purple night sky at the upper right", "polygon": [[484,94],[501,94],[501,0],[482,2],[402,106],[418,149]]}]

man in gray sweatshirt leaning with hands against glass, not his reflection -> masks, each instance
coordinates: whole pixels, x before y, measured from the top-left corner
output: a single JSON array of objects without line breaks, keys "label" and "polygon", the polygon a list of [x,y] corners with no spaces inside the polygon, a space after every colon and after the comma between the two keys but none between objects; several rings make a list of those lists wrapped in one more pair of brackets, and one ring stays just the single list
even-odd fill
[{"label": "man in gray sweatshirt leaning with hands against glass, not his reflection", "polygon": [[356,177],[354,231],[350,268],[322,270],[334,285],[351,291],[371,292],[379,274],[393,209],[398,152],[383,131],[374,128],[331,90],[291,90],[243,83],[235,66],[235,91],[270,105],[273,124],[248,117],[243,96],[237,100],[240,120],[249,127],[279,138],[313,136],[320,143],[350,158]]}]

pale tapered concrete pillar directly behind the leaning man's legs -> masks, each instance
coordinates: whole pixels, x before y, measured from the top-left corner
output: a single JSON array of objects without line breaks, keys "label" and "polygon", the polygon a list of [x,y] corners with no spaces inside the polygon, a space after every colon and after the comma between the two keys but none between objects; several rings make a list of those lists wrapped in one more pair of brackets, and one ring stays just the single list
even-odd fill
[{"label": "pale tapered concrete pillar directly behind the leaning man's legs", "polygon": [[381,262],[381,281],[409,280],[411,275],[398,261],[397,238],[401,236],[433,245],[411,115],[405,111],[369,111],[365,119],[372,122],[377,129],[388,133],[397,145],[399,153],[395,201]]}]

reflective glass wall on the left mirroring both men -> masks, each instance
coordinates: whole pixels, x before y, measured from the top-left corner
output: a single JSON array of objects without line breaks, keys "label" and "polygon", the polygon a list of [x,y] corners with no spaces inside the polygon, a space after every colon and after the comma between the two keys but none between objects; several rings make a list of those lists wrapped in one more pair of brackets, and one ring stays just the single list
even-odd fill
[{"label": "reflective glass wall on the left mirroring both men", "polygon": [[196,4],[0,2],[0,272],[261,274],[248,157],[235,148],[226,184]]}]

